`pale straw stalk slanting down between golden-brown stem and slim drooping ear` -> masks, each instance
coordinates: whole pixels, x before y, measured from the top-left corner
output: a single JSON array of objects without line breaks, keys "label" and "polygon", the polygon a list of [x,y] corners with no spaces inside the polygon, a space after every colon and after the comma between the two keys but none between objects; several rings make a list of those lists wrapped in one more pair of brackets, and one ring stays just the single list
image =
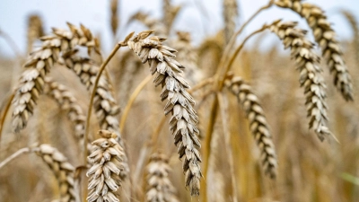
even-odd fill
[{"label": "pale straw stalk slanting down between golden-brown stem and slim drooping ear", "polygon": [[222,119],[222,127],[223,127],[223,136],[224,136],[224,143],[225,143],[225,150],[228,154],[228,162],[230,165],[230,173],[231,173],[231,182],[232,182],[232,201],[238,202],[237,198],[237,183],[235,180],[235,173],[234,173],[234,158],[231,146],[231,132],[229,131],[228,124],[230,123],[230,119],[228,118],[229,114],[229,107],[228,101],[223,96],[223,92],[217,93],[217,99],[219,104],[219,110],[221,111],[221,119]]}]

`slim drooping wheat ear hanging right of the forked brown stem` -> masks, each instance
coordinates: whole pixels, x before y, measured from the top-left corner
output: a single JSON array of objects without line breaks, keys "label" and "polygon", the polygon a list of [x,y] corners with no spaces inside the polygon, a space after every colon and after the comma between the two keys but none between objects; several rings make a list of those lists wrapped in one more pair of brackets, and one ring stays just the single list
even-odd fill
[{"label": "slim drooping wheat ear hanging right of the forked brown stem", "polygon": [[265,173],[271,178],[276,178],[276,149],[269,131],[267,119],[263,108],[260,106],[257,95],[255,95],[250,85],[245,83],[239,76],[228,76],[225,85],[238,98],[241,107],[250,120],[250,132],[256,139],[260,149],[260,159]]}]

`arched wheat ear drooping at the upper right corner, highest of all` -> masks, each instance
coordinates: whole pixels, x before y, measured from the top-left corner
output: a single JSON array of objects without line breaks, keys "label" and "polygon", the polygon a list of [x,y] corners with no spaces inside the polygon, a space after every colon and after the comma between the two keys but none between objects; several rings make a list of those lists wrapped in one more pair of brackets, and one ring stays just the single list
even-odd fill
[{"label": "arched wheat ear drooping at the upper right corner, highest of all", "polygon": [[317,5],[302,3],[302,0],[278,0],[276,5],[290,8],[305,18],[313,31],[315,40],[320,45],[323,57],[327,60],[337,90],[342,93],[346,101],[353,101],[351,76],[342,57],[342,50],[336,40],[336,32],[332,29],[324,11]]}]

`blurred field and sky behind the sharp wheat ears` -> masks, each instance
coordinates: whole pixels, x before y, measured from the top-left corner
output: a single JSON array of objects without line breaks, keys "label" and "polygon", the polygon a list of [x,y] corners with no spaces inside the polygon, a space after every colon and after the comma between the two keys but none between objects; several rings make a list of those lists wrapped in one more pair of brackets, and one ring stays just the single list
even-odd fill
[{"label": "blurred field and sky behind the sharp wheat ears", "polygon": [[[165,2],[170,2],[170,16],[173,18],[171,26],[167,27]],[[224,5],[228,2],[234,2],[232,6],[227,5],[227,9],[232,8],[230,21],[225,20],[228,12],[224,12]],[[118,106],[122,111],[129,104],[131,106],[126,117],[121,112],[116,118],[121,123],[127,145],[132,171],[129,178],[136,179],[124,181],[121,201],[145,201],[145,166],[153,151],[162,152],[170,159],[172,171],[169,176],[180,201],[235,201],[233,198],[250,202],[359,201],[359,1],[305,2],[318,5],[328,15],[327,20],[337,34],[342,57],[352,75],[355,101],[346,102],[337,92],[326,62],[324,59],[320,62],[327,83],[328,126],[340,144],[332,139],[322,143],[308,128],[305,96],[290,51],[283,48],[275,34],[264,31],[250,39],[242,49],[232,66],[232,74],[249,83],[262,104],[276,145],[277,178],[271,180],[263,173],[260,151],[250,132],[245,111],[236,97],[224,90],[230,109],[230,120],[224,127],[231,132],[231,141],[230,144],[224,141],[223,123],[218,115],[209,144],[211,155],[206,159],[208,171],[202,179],[206,182],[201,184],[206,186],[206,191],[202,190],[201,194],[206,194],[191,198],[184,186],[182,162],[168,128],[169,117],[163,115],[165,103],[159,101],[161,89],[153,87],[152,79],[144,83],[149,75],[148,66],[142,65],[127,48],[121,48],[109,63],[108,76]],[[228,31],[223,28],[230,27],[232,32],[238,30],[267,3],[266,0],[1,0],[0,115],[4,115],[8,98],[19,83],[27,56],[41,46],[41,41],[37,40],[40,36],[51,35],[51,28],[68,30],[66,22],[71,22],[75,26],[82,23],[92,31],[100,41],[102,56],[86,58],[91,57],[97,66],[101,64],[101,57],[107,57],[115,43],[123,40],[129,32],[156,30],[155,34],[168,38],[165,43],[179,50],[176,59],[186,66],[185,78],[191,86],[197,86],[217,71],[223,48],[228,43]],[[114,4],[118,6],[117,12],[113,12]],[[117,19],[115,26],[113,19]],[[264,23],[277,19],[299,22],[298,27],[308,31],[307,37],[314,41],[310,26],[297,13],[272,6],[250,22],[236,44]],[[83,57],[85,52],[80,48],[79,55]],[[318,45],[315,52],[321,55]],[[64,84],[87,114],[90,92],[79,77],[89,75],[75,75],[63,64],[57,64],[49,76]],[[143,89],[131,102],[131,95],[136,94],[142,84]],[[202,144],[208,137],[209,116],[215,113],[211,110],[214,97],[210,92],[211,86],[193,92]],[[13,109],[10,108],[7,118],[3,119],[0,162],[22,147],[46,143],[56,146],[74,167],[82,165],[73,122],[67,118],[68,106],[62,107],[53,100],[40,96],[28,127],[20,134],[13,133]],[[94,117],[92,136],[96,136],[99,129],[94,124]],[[155,133],[156,144],[148,148]],[[203,150],[202,147],[201,153]],[[0,171],[0,201],[54,201],[60,192],[56,177],[35,154],[22,155]]]}]

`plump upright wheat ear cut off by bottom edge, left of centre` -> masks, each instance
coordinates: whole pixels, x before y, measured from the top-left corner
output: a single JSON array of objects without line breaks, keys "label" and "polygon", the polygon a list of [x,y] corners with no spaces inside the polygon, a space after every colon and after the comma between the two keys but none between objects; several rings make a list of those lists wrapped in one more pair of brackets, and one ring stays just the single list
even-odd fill
[{"label": "plump upright wheat ear cut off by bottom edge, left of centre", "polygon": [[92,167],[86,175],[90,178],[87,201],[117,202],[121,186],[120,171],[124,170],[123,149],[118,145],[117,135],[109,130],[100,130],[101,138],[92,142],[92,153],[88,156]]}]

